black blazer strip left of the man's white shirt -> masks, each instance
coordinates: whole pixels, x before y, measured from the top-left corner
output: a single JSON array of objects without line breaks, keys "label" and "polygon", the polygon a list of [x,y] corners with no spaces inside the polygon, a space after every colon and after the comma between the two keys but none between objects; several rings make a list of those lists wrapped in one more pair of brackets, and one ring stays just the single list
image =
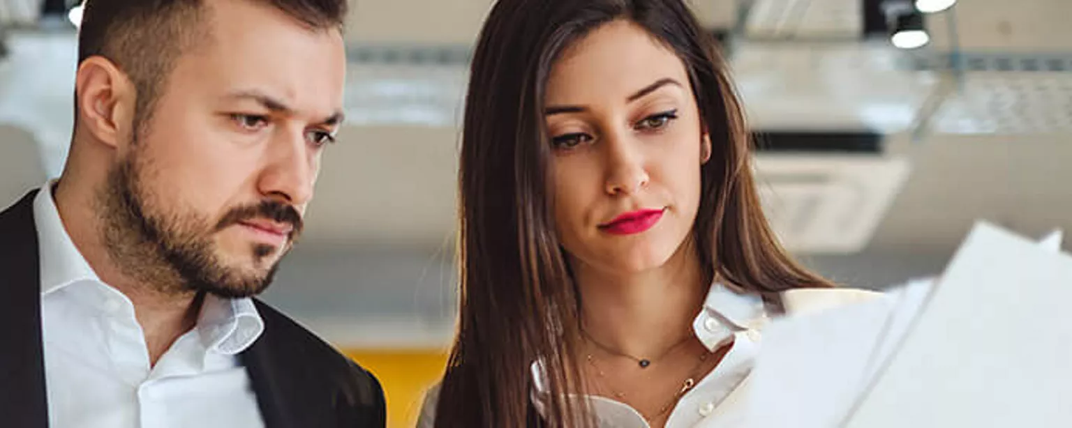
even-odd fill
[{"label": "black blazer strip left of the man's white shirt", "polygon": [[44,347],[41,336],[41,263],[32,192],[0,213],[0,415],[5,427],[45,428]]}]

